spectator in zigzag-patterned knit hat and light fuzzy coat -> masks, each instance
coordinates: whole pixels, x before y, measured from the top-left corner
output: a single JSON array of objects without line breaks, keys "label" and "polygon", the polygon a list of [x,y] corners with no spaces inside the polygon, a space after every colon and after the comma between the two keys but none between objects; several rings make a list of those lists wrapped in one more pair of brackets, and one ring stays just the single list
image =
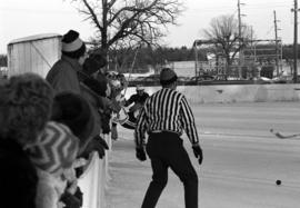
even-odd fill
[{"label": "spectator in zigzag-patterned knit hat and light fuzzy coat", "polygon": [[67,182],[77,180],[72,165],[78,149],[79,139],[67,126],[54,121],[49,121],[37,143],[28,148],[39,176],[36,198],[38,208],[62,206],[60,197]]}]

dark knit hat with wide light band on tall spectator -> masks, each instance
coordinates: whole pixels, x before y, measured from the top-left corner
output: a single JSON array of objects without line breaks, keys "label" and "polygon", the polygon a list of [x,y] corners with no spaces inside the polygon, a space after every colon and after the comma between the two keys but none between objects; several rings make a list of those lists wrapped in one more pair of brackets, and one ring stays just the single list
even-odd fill
[{"label": "dark knit hat with wide light band on tall spectator", "polygon": [[86,43],[79,38],[79,32],[69,30],[61,40],[61,52],[70,58],[78,59],[86,52]]}]

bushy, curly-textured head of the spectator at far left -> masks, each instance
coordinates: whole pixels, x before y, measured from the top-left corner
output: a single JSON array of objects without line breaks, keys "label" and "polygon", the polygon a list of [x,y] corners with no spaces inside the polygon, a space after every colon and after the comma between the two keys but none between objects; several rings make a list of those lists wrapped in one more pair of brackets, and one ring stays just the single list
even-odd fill
[{"label": "bushy, curly-textured head of the spectator at far left", "polygon": [[12,76],[0,87],[0,137],[36,142],[50,118],[53,89],[36,73]]}]

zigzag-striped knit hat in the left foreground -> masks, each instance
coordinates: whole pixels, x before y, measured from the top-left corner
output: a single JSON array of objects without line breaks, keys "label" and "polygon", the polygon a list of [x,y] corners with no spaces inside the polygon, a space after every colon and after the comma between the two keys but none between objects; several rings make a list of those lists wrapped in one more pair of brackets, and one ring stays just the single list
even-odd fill
[{"label": "zigzag-striped knit hat in the left foreground", "polygon": [[57,174],[70,168],[78,153],[79,140],[70,129],[59,122],[47,123],[34,146],[29,147],[31,161],[40,169]]}]

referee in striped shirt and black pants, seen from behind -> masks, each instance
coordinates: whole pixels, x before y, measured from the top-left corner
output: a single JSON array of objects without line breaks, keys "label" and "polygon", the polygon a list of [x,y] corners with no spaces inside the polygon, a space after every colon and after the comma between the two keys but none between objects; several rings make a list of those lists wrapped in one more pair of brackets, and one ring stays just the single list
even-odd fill
[{"label": "referee in striped shirt and black pants, seen from behind", "polygon": [[[160,83],[162,89],[147,99],[134,130],[136,156],[144,161],[146,146],[153,172],[142,208],[156,207],[168,182],[169,167],[183,182],[186,208],[198,208],[198,176],[180,138],[184,130],[201,165],[203,156],[194,118],[186,97],[176,91],[176,72],[170,68],[163,68],[160,72]],[[146,132],[149,135],[147,145]]]}]

